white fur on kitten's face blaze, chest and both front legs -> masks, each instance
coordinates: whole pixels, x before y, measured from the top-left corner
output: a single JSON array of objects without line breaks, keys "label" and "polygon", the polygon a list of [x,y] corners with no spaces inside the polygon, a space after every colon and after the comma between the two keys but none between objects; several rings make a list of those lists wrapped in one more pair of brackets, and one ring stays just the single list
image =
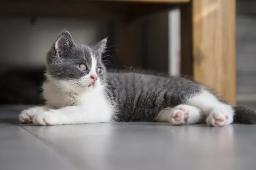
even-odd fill
[{"label": "white fur on kitten's face blaze, chest and both front legs", "polygon": [[[95,68],[95,69],[93,69]],[[43,85],[46,106],[30,108],[19,115],[20,122],[36,125],[64,125],[109,122],[115,111],[98,78],[94,85],[90,75],[96,74],[92,57],[89,74],[76,81],[57,81],[46,73]],[[77,85],[79,81],[79,85]]]}]

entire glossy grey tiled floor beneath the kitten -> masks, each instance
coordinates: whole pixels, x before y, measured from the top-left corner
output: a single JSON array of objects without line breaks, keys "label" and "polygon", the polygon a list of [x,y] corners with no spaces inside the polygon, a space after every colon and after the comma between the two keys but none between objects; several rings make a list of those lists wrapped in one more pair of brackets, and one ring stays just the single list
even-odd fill
[{"label": "entire glossy grey tiled floor beneath the kitten", "polygon": [[15,108],[1,109],[0,170],[249,170],[256,167],[256,125],[213,128],[116,122],[34,126],[18,125],[18,113]]}]

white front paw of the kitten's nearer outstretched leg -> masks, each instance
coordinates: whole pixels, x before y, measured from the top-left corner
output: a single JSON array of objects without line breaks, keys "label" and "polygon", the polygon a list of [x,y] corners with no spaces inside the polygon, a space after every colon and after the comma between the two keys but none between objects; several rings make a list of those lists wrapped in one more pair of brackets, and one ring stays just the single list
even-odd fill
[{"label": "white front paw of the kitten's nearer outstretched leg", "polygon": [[58,120],[58,114],[52,111],[45,111],[37,114],[32,122],[35,125],[61,125]]}]

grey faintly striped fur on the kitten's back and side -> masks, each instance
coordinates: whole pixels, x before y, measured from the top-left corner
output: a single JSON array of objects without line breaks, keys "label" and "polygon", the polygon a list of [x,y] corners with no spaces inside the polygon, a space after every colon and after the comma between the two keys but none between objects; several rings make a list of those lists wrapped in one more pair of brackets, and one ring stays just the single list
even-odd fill
[{"label": "grey faintly striped fur on the kitten's back and side", "polygon": [[143,71],[108,72],[107,82],[116,95],[117,120],[154,121],[164,108],[173,108],[199,94],[203,86],[180,77]]}]

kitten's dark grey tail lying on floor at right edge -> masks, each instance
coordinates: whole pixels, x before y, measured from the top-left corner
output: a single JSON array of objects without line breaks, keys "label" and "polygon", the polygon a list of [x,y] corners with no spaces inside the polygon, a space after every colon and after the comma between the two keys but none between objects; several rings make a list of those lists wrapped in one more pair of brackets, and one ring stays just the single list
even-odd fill
[{"label": "kitten's dark grey tail lying on floor at right edge", "polygon": [[233,107],[235,110],[234,122],[243,124],[256,124],[256,111],[243,106]]}]

